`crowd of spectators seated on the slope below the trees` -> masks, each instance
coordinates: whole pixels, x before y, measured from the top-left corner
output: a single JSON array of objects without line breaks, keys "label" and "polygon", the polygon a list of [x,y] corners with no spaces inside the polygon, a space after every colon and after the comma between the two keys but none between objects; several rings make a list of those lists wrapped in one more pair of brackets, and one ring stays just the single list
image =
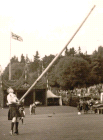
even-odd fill
[{"label": "crowd of spectators seated on the slope below the trees", "polygon": [[[88,88],[75,88],[73,90],[54,90],[53,93],[57,96],[62,96],[64,104],[69,104],[70,98],[88,97],[87,100],[93,99],[99,102],[100,93],[103,92],[103,84],[93,85]],[[90,97],[90,98],[89,98]]]}]

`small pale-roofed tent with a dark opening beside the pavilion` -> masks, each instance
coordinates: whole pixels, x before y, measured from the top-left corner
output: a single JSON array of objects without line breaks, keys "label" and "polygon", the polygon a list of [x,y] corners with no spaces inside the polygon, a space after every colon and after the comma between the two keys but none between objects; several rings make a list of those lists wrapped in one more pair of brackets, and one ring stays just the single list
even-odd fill
[{"label": "small pale-roofed tent with a dark opening beside the pavilion", "polygon": [[48,105],[62,105],[62,97],[57,96],[52,91],[47,90]]}]

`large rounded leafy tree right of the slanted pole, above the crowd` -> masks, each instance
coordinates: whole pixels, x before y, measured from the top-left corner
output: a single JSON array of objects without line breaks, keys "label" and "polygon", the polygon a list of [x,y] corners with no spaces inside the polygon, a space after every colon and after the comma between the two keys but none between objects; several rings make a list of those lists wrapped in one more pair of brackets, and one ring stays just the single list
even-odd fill
[{"label": "large rounded leafy tree right of the slanted pole, above the crowd", "polygon": [[64,57],[55,67],[57,83],[64,88],[84,86],[89,75],[89,63],[83,58]]}]

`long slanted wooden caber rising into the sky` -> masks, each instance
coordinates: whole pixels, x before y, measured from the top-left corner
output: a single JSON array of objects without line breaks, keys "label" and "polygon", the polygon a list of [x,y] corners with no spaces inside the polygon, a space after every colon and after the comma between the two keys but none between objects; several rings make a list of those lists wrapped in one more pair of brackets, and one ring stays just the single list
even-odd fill
[{"label": "long slanted wooden caber rising into the sky", "polygon": [[31,89],[37,84],[37,82],[42,78],[42,76],[50,69],[50,67],[53,65],[53,63],[58,59],[58,57],[62,54],[62,52],[66,49],[66,47],[68,46],[68,44],[73,40],[73,38],[75,37],[75,35],[77,34],[77,32],[80,30],[80,28],[82,27],[82,25],[84,24],[84,22],[87,20],[87,18],[89,17],[89,15],[91,14],[91,12],[94,10],[95,5],[92,7],[92,9],[90,10],[90,12],[88,13],[88,15],[86,16],[86,18],[83,20],[83,22],[80,24],[79,28],[76,30],[76,32],[74,33],[74,35],[70,38],[70,40],[67,42],[67,44],[65,45],[65,47],[60,51],[60,53],[52,60],[52,62],[47,66],[47,68],[42,72],[42,74],[37,78],[37,80],[31,85],[31,87],[27,90],[27,92],[21,97],[20,101],[22,101],[27,94],[31,91]]}]

